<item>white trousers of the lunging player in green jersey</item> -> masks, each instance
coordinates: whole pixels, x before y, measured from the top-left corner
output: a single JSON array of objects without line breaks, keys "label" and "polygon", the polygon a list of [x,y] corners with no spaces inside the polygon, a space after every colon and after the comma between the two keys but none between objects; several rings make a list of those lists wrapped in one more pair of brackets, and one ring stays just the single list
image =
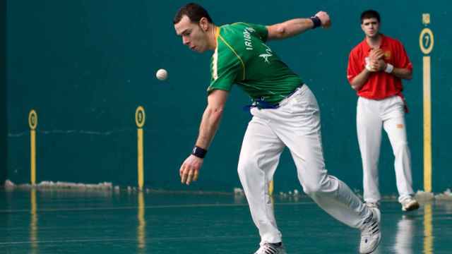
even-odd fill
[{"label": "white trousers of the lunging player in green jersey", "polygon": [[361,227],[370,210],[345,183],[329,176],[325,169],[319,105],[311,90],[303,85],[280,105],[278,109],[251,109],[253,118],[239,157],[239,178],[261,243],[281,241],[268,183],[286,146],[304,192],[335,219]]}]

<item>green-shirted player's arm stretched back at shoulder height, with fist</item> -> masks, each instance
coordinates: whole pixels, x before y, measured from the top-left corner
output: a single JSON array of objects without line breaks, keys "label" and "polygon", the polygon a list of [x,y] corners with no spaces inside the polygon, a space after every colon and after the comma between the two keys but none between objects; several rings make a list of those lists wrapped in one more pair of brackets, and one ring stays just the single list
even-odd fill
[{"label": "green-shirted player's arm stretched back at shoulder height, with fist", "polygon": [[331,25],[330,16],[325,11],[319,11],[312,18],[294,18],[283,23],[268,25],[267,40],[281,40],[299,35],[311,28],[319,26],[329,28]]}]

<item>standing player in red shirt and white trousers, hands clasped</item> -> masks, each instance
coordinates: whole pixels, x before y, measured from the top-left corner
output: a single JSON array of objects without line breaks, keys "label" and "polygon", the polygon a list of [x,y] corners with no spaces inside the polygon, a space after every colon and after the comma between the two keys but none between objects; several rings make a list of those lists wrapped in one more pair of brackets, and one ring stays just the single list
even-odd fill
[{"label": "standing player in red shirt and white trousers, hands clasped", "polygon": [[396,157],[398,201],[403,211],[416,210],[413,198],[410,149],[405,128],[402,80],[412,78],[412,64],[403,44],[379,32],[380,15],[369,10],[361,15],[365,38],[350,52],[347,78],[357,91],[357,136],[364,171],[364,200],[379,206],[378,163],[381,127],[388,133]]}]

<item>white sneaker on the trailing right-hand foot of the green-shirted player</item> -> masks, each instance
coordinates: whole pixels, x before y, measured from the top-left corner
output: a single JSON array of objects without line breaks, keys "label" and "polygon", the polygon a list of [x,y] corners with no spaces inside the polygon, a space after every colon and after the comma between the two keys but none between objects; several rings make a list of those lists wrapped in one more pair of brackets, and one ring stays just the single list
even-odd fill
[{"label": "white sneaker on the trailing right-hand foot of the green-shirted player", "polygon": [[361,229],[361,242],[359,243],[359,253],[369,254],[374,252],[381,240],[380,231],[380,210],[370,208],[372,214],[365,221]]}]

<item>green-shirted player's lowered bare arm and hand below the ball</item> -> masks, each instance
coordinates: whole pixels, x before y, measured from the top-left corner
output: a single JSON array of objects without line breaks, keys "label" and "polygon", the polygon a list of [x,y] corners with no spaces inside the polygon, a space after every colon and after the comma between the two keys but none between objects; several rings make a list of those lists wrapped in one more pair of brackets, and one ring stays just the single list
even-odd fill
[{"label": "green-shirted player's lowered bare arm and hand below the ball", "polygon": [[[213,136],[215,136],[218,126],[220,125],[220,120],[228,94],[229,92],[227,91],[214,90],[208,96],[208,104],[206,110],[204,110],[201,126],[199,127],[196,147],[201,147],[203,150],[208,149],[213,140]],[[201,166],[203,165],[203,161],[203,158],[195,155],[187,157],[179,169],[181,182],[189,185],[191,181],[196,181],[198,179],[199,169],[201,169]]]}]

